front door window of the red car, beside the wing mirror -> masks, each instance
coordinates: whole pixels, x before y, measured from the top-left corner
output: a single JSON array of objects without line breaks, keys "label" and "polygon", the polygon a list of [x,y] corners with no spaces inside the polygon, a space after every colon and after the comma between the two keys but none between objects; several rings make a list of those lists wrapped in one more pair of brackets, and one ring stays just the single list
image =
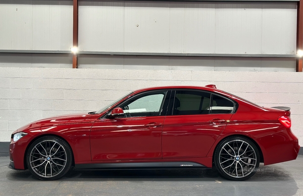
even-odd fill
[{"label": "front door window of the red car, beside the wing mirror", "polygon": [[165,94],[166,92],[154,92],[138,95],[120,107],[126,117],[158,116],[162,111]]}]

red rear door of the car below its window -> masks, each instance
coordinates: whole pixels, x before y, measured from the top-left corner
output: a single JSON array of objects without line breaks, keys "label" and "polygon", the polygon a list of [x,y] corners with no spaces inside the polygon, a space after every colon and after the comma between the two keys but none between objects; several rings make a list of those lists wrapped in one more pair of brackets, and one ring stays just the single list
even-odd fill
[{"label": "red rear door of the car below its window", "polygon": [[[232,114],[167,116],[162,133],[163,159],[207,157],[231,116]],[[226,121],[216,122],[214,119]]]}]

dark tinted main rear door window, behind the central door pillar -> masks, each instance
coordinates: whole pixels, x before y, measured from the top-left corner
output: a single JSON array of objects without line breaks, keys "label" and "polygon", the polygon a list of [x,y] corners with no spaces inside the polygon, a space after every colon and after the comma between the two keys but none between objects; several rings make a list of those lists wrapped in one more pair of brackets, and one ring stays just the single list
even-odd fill
[{"label": "dark tinted main rear door window, behind the central door pillar", "polygon": [[176,90],[173,115],[210,113],[211,94],[203,91]]}]

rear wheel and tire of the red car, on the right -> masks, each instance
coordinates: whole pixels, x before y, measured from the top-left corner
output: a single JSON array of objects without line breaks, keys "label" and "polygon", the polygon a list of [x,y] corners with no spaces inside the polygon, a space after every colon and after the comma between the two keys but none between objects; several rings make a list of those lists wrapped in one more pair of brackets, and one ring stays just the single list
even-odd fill
[{"label": "rear wheel and tire of the red car, on the right", "polygon": [[219,173],[228,180],[246,180],[260,164],[257,146],[241,136],[223,139],[216,148],[214,162]]}]

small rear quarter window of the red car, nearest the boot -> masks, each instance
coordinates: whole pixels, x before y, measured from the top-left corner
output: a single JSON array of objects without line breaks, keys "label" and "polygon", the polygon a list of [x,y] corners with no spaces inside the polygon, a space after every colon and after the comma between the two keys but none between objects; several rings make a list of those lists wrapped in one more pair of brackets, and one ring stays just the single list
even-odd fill
[{"label": "small rear quarter window of the red car, nearest the boot", "polygon": [[212,114],[230,114],[234,109],[234,103],[222,96],[213,95]]}]

